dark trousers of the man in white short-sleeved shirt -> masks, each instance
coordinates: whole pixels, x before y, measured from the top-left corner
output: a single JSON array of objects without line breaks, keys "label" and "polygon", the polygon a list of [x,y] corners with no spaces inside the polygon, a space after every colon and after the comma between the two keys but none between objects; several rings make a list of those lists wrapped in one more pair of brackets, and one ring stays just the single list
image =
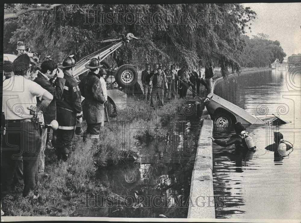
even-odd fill
[{"label": "dark trousers of the man in white short-sleeved shirt", "polygon": [[39,124],[7,121],[1,148],[1,197],[9,193],[20,157],[23,159],[23,196],[34,190],[38,173],[41,136]]}]

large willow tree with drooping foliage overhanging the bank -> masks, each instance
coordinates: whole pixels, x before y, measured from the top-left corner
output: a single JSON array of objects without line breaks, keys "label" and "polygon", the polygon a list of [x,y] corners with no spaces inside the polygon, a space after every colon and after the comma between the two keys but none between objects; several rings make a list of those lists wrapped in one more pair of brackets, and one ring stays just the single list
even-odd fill
[{"label": "large willow tree with drooping foliage overhanging the bank", "polygon": [[[93,14],[99,21],[91,18]],[[99,49],[99,39],[132,32],[140,40],[113,54],[117,65],[136,58],[190,68],[211,62],[225,77],[228,68],[240,70],[240,35],[255,17],[241,4],[60,5],[19,16],[10,42],[23,40],[61,61],[67,54],[83,57]]]}]

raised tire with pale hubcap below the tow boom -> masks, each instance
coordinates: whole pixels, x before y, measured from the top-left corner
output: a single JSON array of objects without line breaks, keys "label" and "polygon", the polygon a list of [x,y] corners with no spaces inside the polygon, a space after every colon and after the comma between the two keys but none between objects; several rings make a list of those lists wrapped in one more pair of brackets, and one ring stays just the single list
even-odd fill
[{"label": "raised tire with pale hubcap below the tow boom", "polygon": [[115,80],[119,87],[131,87],[137,82],[136,69],[129,64],[120,66],[115,74]]}]

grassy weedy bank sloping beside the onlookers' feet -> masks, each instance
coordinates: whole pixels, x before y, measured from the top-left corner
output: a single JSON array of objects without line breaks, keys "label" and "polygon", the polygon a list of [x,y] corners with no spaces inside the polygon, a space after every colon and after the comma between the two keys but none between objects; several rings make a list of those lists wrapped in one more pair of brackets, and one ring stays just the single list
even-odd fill
[{"label": "grassy weedy bank sloping beside the onlookers' feet", "polygon": [[[121,110],[117,118],[111,118],[102,128],[98,146],[91,141],[82,142],[75,136],[72,152],[67,162],[57,161],[53,149],[45,151],[45,172],[47,177],[38,177],[40,197],[33,200],[31,192],[22,197],[23,186],[17,186],[4,200],[2,210],[8,216],[70,216],[78,204],[85,201],[84,192],[101,191],[102,185],[95,179],[95,172],[101,167],[119,164],[124,158],[137,155],[136,146],[142,138],[155,139],[163,137],[164,129],[171,116],[181,115],[185,101],[171,100],[162,109],[154,111],[143,100],[128,98],[128,105]],[[128,118],[134,132],[120,140],[116,137],[117,122]],[[85,130],[85,122],[83,129]],[[123,129],[121,129],[123,130]],[[121,134],[120,134],[121,135]],[[123,148],[116,150],[116,148]],[[115,151],[115,152],[114,152]],[[117,151],[117,152],[116,152]]]}]

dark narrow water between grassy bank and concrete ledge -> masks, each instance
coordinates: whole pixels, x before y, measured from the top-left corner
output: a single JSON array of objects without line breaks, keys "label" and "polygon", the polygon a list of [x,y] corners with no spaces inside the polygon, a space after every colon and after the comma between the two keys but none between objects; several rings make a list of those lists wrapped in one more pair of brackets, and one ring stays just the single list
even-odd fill
[{"label": "dark narrow water between grassy bank and concrete ledge", "polygon": [[135,163],[125,161],[100,169],[96,178],[107,190],[104,194],[120,198],[105,201],[100,196],[101,207],[82,205],[75,216],[187,218],[202,112],[200,107],[187,106],[186,117],[173,117],[173,124],[165,127],[164,139],[142,140],[137,148],[140,158]]}]

